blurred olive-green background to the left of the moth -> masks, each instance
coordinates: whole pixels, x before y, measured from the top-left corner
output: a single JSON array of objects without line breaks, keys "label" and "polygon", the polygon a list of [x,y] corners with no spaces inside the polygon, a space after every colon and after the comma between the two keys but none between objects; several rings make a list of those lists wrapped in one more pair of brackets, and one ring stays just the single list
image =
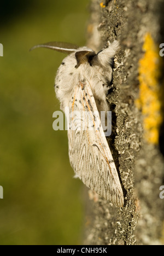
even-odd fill
[{"label": "blurred olive-green background to the left of the moth", "polygon": [[0,15],[1,245],[78,245],[83,185],[73,179],[66,131],[52,130],[66,56],[28,50],[52,40],[85,45],[89,0],[3,1]]}]

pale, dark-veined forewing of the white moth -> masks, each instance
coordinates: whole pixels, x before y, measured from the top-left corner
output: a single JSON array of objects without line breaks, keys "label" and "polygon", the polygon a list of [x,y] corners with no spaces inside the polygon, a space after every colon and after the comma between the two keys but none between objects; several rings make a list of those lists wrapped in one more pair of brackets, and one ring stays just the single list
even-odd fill
[{"label": "pale, dark-veined forewing of the white moth", "polygon": [[[76,92],[77,102],[71,103],[71,112],[80,112],[84,117],[85,130],[68,131],[69,158],[71,165],[84,184],[97,194],[113,202],[117,207],[124,206],[124,196],[119,181],[118,172],[104,135],[95,99],[89,83],[79,87]],[[90,115],[89,124],[86,114]],[[74,123],[76,120],[72,119]],[[72,125],[73,126],[73,125]],[[90,129],[92,127],[92,129]]]}]

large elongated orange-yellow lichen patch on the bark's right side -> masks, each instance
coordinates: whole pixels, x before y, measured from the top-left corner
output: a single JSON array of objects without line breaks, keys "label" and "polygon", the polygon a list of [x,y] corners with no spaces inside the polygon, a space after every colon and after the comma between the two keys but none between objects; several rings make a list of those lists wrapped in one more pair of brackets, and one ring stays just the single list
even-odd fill
[{"label": "large elongated orange-yellow lichen patch on the bark's right side", "polygon": [[144,117],[144,135],[149,143],[159,142],[159,129],[162,123],[160,102],[160,55],[151,34],[146,34],[143,45],[145,54],[139,61],[139,98],[137,107]]}]

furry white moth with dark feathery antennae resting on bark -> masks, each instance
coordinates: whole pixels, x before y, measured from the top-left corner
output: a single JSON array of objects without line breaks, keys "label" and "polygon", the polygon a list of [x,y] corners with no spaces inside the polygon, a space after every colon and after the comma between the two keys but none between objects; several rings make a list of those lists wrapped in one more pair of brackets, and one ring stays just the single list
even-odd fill
[{"label": "furry white moth with dark feathery antennae resting on bark", "polygon": [[[112,80],[111,63],[119,49],[118,41],[114,41],[98,54],[86,46],[78,46],[50,42],[34,46],[34,48],[50,48],[69,55],[62,61],[55,79],[55,91],[61,103],[61,109],[69,112],[83,112],[90,115],[89,124],[83,120],[86,129],[71,129],[77,126],[77,119],[72,115],[68,129],[69,159],[75,172],[84,184],[116,207],[124,206],[124,196],[112,154],[106,136],[95,114],[108,111],[106,100],[108,83]],[[66,113],[67,115],[67,113]],[[92,126],[92,130],[89,129]]]}]

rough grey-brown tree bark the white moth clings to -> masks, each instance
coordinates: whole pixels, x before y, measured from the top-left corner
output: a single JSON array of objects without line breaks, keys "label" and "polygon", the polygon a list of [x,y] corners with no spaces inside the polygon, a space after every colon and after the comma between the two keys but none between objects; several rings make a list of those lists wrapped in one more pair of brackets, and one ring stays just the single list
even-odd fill
[{"label": "rough grey-brown tree bark the white moth clings to", "polygon": [[144,114],[136,100],[140,97],[139,61],[144,56],[145,35],[150,33],[158,47],[164,43],[161,30],[164,4],[160,0],[101,2],[91,1],[88,45],[98,51],[108,40],[118,39],[121,44],[108,96],[113,113],[109,146],[124,190],[125,206],[115,208],[89,191],[84,244],[160,245],[163,156],[159,144],[145,139]]}]

